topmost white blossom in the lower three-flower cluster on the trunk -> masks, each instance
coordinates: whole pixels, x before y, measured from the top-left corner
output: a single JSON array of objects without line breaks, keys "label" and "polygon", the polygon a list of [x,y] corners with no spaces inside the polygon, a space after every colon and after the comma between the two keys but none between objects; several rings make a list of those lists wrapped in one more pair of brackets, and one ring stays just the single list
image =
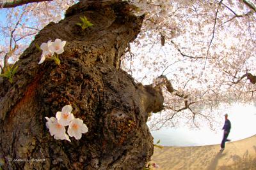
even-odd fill
[{"label": "topmost white blossom in the lower three-flower cluster on the trunk", "polygon": [[61,111],[56,113],[56,118],[59,123],[63,126],[66,126],[70,123],[71,120],[74,119],[74,115],[71,113],[72,106],[66,105],[62,108]]}]

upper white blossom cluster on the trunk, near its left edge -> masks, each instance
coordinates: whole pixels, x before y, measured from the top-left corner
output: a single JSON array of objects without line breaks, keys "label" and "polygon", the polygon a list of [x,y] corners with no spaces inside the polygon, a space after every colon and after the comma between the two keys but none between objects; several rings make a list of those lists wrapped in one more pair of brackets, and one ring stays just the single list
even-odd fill
[{"label": "upper white blossom cluster on the trunk, near its left edge", "polygon": [[[42,64],[45,59],[52,59],[55,61],[57,65],[60,65],[59,54],[64,52],[64,46],[66,45],[66,41],[61,41],[61,39],[55,39],[54,42],[49,40],[47,43],[42,43],[40,45],[42,52],[41,60],[38,64]],[[55,55],[56,53],[56,55]]]}]

